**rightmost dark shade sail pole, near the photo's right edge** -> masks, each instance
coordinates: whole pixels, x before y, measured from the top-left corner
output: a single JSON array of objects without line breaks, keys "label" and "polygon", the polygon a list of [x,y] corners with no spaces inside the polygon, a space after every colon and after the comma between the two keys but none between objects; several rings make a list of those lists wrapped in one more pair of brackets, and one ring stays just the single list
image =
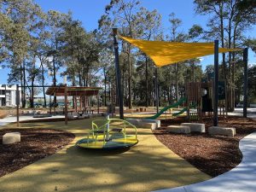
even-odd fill
[{"label": "rightmost dark shade sail pole, near the photo's right edge", "polygon": [[243,117],[247,118],[248,48],[243,49]]}]

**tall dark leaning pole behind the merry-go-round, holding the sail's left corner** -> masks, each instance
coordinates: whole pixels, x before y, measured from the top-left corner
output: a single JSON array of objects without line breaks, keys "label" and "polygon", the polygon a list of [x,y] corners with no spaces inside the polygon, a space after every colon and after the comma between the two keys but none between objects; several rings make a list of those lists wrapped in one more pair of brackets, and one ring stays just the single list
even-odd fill
[{"label": "tall dark leaning pole behind the merry-go-round, holding the sail's left corner", "polygon": [[119,97],[119,115],[120,119],[124,119],[124,108],[123,108],[123,91],[121,85],[121,77],[120,77],[120,69],[119,69],[119,44],[116,40],[117,28],[113,28],[113,48],[115,55],[115,73],[116,73],[116,82],[117,82],[117,90]]}]

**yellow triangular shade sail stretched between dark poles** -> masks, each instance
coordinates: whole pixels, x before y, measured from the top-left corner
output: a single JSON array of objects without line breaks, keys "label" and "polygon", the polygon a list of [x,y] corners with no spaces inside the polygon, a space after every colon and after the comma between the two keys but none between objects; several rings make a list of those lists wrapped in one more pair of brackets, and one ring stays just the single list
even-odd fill
[{"label": "yellow triangular shade sail stretched between dark poles", "polygon": [[[214,43],[145,41],[122,36],[119,37],[141,49],[154,61],[156,67],[163,67],[180,61],[214,54]],[[219,48],[218,52],[224,53],[238,50],[241,49]]]}]

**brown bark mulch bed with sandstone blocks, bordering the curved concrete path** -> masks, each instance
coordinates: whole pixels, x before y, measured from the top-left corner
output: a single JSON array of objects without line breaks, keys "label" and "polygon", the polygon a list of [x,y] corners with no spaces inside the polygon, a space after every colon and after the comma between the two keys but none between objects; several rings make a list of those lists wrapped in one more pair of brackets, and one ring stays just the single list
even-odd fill
[{"label": "brown bark mulch bed with sandstone blocks, bordering the curved concrete path", "polygon": [[[155,130],[154,135],[167,148],[212,177],[230,171],[241,162],[239,141],[256,131],[256,120],[229,117],[228,121],[219,119],[218,125],[235,127],[235,137],[210,136],[207,133],[181,135],[166,132],[167,125],[179,125],[184,121],[184,119],[162,120],[161,129]],[[212,126],[212,122],[204,123],[207,131],[207,128]]]}]

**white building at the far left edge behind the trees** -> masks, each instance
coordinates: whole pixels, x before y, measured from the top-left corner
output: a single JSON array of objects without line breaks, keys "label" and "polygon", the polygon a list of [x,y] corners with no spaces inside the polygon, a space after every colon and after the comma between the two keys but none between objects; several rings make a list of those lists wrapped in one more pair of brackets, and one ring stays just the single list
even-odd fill
[{"label": "white building at the far left edge behind the trees", "polygon": [[[16,106],[16,89],[17,89],[16,85],[0,84],[0,107]],[[19,88],[19,90],[21,89]],[[21,98],[21,94],[20,94],[20,98]]]}]

